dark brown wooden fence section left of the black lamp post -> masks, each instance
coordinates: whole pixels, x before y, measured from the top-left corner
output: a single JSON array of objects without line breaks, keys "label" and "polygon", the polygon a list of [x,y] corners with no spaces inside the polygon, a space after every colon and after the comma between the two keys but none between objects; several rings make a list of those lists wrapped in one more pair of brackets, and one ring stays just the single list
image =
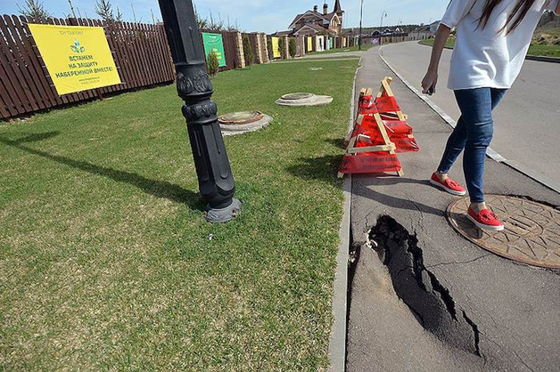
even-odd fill
[{"label": "dark brown wooden fence section left of the black lamp post", "polygon": [[[58,95],[28,23],[103,27],[122,84]],[[171,83],[174,79],[169,46],[161,26],[85,19],[40,21],[5,14],[0,19],[0,117],[100,98],[105,93]]]}]

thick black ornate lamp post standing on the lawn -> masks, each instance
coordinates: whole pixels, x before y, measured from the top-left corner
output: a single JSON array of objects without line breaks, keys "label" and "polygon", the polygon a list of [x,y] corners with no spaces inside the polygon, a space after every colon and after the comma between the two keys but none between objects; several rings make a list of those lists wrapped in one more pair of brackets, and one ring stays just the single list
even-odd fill
[{"label": "thick black ornate lamp post standing on the lawn", "polygon": [[185,101],[183,116],[193,150],[206,219],[227,222],[241,211],[234,198],[234,177],[218,124],[218,106],[206,70],[206,56],[191,0],[159,0],[171,56],[177,71],[177,92]]}]

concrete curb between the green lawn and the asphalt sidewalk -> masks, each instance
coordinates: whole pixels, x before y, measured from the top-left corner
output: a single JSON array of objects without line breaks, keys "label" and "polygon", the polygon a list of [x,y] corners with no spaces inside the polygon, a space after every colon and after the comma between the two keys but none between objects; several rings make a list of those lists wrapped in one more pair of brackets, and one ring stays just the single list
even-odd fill
[{"label": "concrete curb between the green lawn and the asphalt sidewalk", "polygon": [[[354,97],[356,95],[356,78],[361,68],[361,58],[352,82],[350,97],[349,131],[354,125]],[[339,230],[340,244],[336,255],[336,273],[334,276],[333,295],[333,328],[329,337],[329,372],[343,372],[346,368],[346,317],[348,303],[348,260],[350,255],[350,206],[352,205],[352,176],[344,177],[342,186],[344,205],[342,206],[342,222]]]}]

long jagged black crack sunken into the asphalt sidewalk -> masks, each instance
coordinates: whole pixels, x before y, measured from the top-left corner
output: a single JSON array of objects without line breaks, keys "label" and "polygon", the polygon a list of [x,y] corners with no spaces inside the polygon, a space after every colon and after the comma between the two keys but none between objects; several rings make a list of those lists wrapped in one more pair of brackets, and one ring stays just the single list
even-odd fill
[{"label": "long jagged black crack sunken into the asphalt sidewalk", "polygon": [[370,230],[369,240],[387,266],[396,294],[424,329],[450,346],[484,358],[478,326],[426,267],[416,233],[412,235],[391,217],[382,216]]}]

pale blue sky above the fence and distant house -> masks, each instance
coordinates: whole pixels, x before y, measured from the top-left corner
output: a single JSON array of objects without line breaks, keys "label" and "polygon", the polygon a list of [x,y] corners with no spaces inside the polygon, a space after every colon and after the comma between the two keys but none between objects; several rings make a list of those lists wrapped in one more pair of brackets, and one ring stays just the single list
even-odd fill
[{"label": "pale blue sky above the fence and distant house", "polygon": [[[95,0],[71,0],[75,8],[79,9],[82,16],[92,18],[95,15]],[[0,0],[0,12],[18,13],[17,4],[24,4],[25,0]],[[43,0],[49,12],[57,17],[63,17],[70,12],[68,0]],[[136,20],[151,22],[153,10],[156,19],[161,20],[157,0],[111,0],[119,6],[126,20],[132,20],[131,3],[134,4]],[[299,13],[313,8],[317,4],[322,10],[324,2],[320,0],[194,0],[202,16],[208,16],[210,10],[214,17],[221,15],[232,24],[237,20],[240,28],[246,31],[275,32],[288,28],[293,17]],[[334,0],[328,0],[329,9],[333,9]],[[342,9],[346,11],[345,27],[358,27],[360,0],[341,0]],[[383,25],[396,25],[399,20],[404,24],[428,23],[430,20],[439,20],[449,0],[364,0],[364,26],[379,26],[381,13],[389,12],[383,20]]]}]

